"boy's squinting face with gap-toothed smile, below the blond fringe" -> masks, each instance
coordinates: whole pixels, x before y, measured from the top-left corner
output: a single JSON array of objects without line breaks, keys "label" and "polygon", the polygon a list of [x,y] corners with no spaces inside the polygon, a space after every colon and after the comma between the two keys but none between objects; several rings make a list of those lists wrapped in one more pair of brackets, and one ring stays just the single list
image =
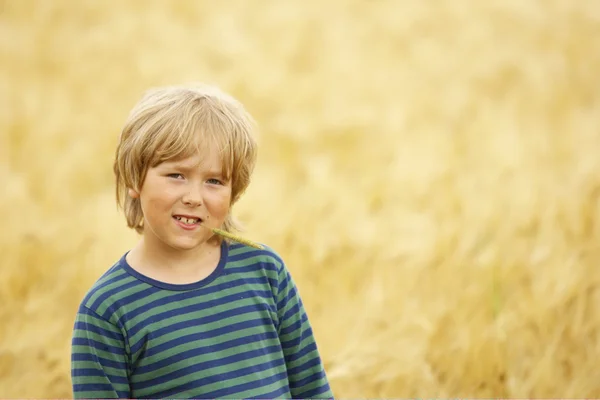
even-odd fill
[{"label": "boy's squinting face with gap-toothed smile, below the blond fringe", "polygon": [[130,189],[144,214],[144,241],[167,251],[199,249],[221,226],[231,203],[216,151],[150,168],[142,189]]}]

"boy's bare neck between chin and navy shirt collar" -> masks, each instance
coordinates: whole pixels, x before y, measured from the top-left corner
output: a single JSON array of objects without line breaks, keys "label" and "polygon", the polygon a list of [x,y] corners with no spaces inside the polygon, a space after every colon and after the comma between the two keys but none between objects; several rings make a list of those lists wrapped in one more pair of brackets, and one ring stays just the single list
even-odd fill
[{"label": "boy's bare neck between chin and navy shirt collar", "polygon": [[149,278],[170,284],[190,284],[208,277],[218,266],[221,246],[206,242],[182,251],[147,243],[144,238],[127,255],[128,264]]}]

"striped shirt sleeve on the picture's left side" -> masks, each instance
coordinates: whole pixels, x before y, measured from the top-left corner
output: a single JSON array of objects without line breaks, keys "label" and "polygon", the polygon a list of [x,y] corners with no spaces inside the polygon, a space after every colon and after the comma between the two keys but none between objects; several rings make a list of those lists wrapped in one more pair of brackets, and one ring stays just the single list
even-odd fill
[{"label": "striped shirt sleeve on the picture's left side", "polygon": [[127,365],[121,330],[82,305],[71,342],[73,398],[130,398]]}]

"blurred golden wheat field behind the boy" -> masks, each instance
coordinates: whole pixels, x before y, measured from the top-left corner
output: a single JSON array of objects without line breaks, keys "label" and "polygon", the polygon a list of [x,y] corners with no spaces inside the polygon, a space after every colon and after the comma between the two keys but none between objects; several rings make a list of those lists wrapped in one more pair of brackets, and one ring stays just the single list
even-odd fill
[{"label": "blurred golden wheat field behind the boy", "polygon": [[337,397],[600,396],[598,1],[4,0],[0,33],[0,397],[71,397],[77,305],[137,240],[119,130],[194,80],[259,123],[234,212]]}]

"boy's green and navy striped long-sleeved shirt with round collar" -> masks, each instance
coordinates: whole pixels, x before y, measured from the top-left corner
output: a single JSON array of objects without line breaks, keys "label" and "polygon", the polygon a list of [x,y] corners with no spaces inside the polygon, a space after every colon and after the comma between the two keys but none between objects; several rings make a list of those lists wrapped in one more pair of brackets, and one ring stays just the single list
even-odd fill
[{"label": "boy's green and navy striped long-sleeved shirt with round collar", "polygon": [[223,241],[215,271],[174,285],[125,255],[75,318],[74,398],[332,398],[294,281],[272,249]]}]

